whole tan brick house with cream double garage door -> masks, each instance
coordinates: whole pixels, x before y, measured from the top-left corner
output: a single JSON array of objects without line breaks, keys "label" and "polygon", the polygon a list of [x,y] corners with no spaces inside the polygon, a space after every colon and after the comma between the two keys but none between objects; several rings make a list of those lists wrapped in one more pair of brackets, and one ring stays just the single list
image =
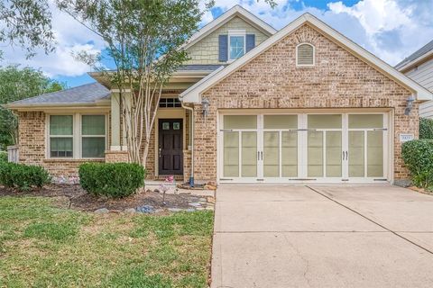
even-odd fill
[{"label": "whole tan brick house with cream double garage door", "polygon": [[[188,181],[192,172],[196,182],[217,184],[408,177],[401,138],[418,137],[419,102],[432,94],[314,16],[275,31],[235,6],[186,49],[191,59],[159,103],[148,177]],[[86,161],[127,160],[116,92],[90,75],[103,85],[9,104],[20,115],[20,162],[76,175]]]}]

